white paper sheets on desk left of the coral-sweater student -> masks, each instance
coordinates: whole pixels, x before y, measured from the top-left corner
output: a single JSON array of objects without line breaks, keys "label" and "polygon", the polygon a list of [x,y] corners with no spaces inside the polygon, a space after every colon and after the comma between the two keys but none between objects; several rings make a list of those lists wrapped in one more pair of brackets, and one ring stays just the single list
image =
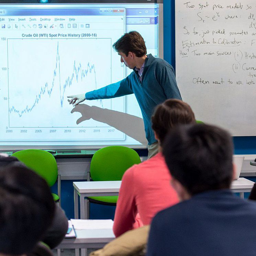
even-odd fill
[{"label": "white paper sheets on desk left of the coral-sweater student", "polygon": [[71,219],[71,223],[74,226],[74,229],[112,229],[113,221],[112,220],[78,220]]}]

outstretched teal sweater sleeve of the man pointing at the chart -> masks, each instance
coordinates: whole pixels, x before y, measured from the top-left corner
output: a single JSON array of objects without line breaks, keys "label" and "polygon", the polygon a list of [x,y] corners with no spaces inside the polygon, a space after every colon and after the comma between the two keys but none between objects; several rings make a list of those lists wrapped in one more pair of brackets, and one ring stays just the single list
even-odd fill
[{"label": "outstretched teal sweater sleeve of the man pointing at the chart", "polygon": [[98,90],[90,91],[85,94],[87,100],[110,99],[132,94],[131,79],[127,76],[123,80],[111,85],[107,85]]}]

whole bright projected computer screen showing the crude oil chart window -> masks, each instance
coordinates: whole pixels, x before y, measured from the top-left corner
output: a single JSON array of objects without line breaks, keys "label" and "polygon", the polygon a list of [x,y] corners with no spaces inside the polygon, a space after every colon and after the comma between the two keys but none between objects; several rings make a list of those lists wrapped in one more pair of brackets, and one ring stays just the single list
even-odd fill
[{"label": "whole bright projected computer screen showing the crude oil chart window", "polygon": [[146,145],[134,95],[76,108],[67,96],[130,74],[112,48],[127,31],[139,31],[158,56],[156,4],[0,7],[0,149]]}]

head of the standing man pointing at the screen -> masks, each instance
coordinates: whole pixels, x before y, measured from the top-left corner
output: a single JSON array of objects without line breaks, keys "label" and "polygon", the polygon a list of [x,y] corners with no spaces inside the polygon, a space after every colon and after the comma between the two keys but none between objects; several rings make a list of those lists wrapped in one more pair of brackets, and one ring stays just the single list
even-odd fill
[{"label": "head of the standing man pointing at the screen", "polygon": [[113,48],[121,56],[121,62],[131,69],[135,67],[136,58],[141,58],[147,54],[144,39],[137,31],[122,35],[113,44]]}]

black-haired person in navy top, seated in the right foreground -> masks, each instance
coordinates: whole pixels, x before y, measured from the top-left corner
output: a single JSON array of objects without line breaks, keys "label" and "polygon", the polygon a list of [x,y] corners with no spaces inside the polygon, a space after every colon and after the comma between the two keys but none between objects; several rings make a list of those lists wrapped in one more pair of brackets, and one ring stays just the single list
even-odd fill
[{"label": "black-haired person in navy top, seated in the right foreground", "polygon": [[204,124],[178,127],[163,154],[182,202],[153,219],[147,255],[255,255],[256,204],[230,191],[230,134]]}]

